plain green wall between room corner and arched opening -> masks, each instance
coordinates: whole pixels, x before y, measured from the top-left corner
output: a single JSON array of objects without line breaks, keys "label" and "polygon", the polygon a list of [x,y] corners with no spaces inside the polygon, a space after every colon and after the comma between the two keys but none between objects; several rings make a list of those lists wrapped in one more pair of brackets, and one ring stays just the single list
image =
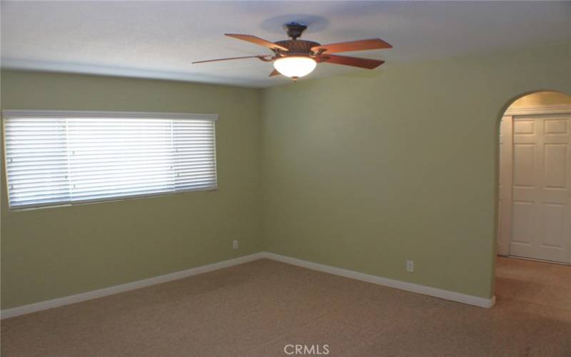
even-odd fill
[{"label": "plain green wall between room corner and arched opening", "polygon": [[498,124],[540,89],[571,93],[570,46],[263,91],[267,250],[492,296]]}]

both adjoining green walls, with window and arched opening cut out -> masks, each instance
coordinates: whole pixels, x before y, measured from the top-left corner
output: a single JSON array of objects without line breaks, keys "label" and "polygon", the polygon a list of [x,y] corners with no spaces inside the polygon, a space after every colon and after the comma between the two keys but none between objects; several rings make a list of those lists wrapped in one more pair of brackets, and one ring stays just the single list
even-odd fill
[{"label": "both adjoining green walls, with window and arched opening cut out", "polygon": [[571,46],[264,90],[2,71],[2,109],[219,120],[217,191],[9,211],[3,162],[1,308],[264,250],[490,297],[497,126],[542,89],[571,93]]}]

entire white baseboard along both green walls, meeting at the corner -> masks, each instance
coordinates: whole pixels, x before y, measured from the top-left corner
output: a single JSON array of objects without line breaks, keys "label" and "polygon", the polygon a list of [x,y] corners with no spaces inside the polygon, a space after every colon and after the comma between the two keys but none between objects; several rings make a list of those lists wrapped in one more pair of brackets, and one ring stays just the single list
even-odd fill
[{"label": "entire white baseboard along both green walls, meeting at the corner", "polygon": [[186,278],[188,276],[207,273],[208,271],[215,271],[221,268],[228,268],[230,266],[248,263],[248,261],[256,261],[261,258],[273,259],[275,261],[281,261],[283,263],[301,266],[303,268],[323,271],[325,273],[331,273],[338,276],[345,276],[345,278],[352,278],[355,280],[366,281],[368,283],[389,286],[390,288],[412,291],[413,293],[422,293],[424,295],[444,298],[446,300],[457,301],[459,303],[467,303],[469,305],[480,306],[482,308],[491,308],[495,304],[495,296],[492,298],[480,298],[479,296],[471,296],[464,293],[456,293],[454,291],[443,290],[440,288],[432,288],[430,286],[407,283],[405,281],[398,281],[389,278],[383,278],[380,276],[359,273],[358,271],[350,271],[347,269],[335,268],[334,266],[326,266],[310,261],[303,261],[298,258],[281,256],[276,253],[260,252],[253,253],[248,256],[233,258],[228,261],[212,263],[206,266],[197,266],[196,268],[190,268],[184,271],[176,271],[174,273],[155,276],[153,278],[133,281],[131,283],[124,283],[121,285],[110,286],[108,288],[87,291],[86,293],[78,293],[76,295],[64,296],[63,298],[54,298],[53,300],[40,301],[39,303],[31,303],[29,305],[17,306],[15,308],[7,308],[6,310],[0,311],[0,318],[11,318],[14,316],[24,315],[26,313],[46,310],[48,308],[56,308],[59,306],[69,305],[70,303],[79,303],[81,301],[87,301],[94,298],[101,298],[103,296],[113,295],[116,293],[123,293],[124,291],[130,291],[136,288],[143,288],[145,286],[166,283],[167,281],[173,281],[181,278]]}]

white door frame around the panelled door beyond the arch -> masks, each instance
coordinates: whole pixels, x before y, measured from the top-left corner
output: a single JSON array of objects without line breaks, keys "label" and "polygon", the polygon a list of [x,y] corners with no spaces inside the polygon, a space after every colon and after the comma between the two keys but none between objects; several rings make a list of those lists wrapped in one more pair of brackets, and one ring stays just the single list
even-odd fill
[{"label": "white door frame around the panelled door beyond the arch", "polygon": [[[510,241],[512,238],[512,204],[505,202],[512,201],[513,180],[513,117],[542,114],[571,114],[571,104],[544,104],[530,108],[507,109],[500,122],[501,130],[507,130],[507,135],[502,133],[497,145],[500,146],[502,140],[502,150],[499,158],[500,181],[498,181],[498,209],[497,209],[497,242],[496,252],[500,256],[510,255]],[[504,122],[507,120],[507,122]],[[505,187],[504,192],[500,187]],[[503,204],[500,204],[500,200]]]}]

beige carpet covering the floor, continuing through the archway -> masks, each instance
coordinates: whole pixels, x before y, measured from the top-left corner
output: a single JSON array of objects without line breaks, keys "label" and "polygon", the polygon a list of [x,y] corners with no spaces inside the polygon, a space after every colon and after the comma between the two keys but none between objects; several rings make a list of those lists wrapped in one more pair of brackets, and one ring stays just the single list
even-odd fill
[{"label": "beige carpet covering the floor, continuing through the archway", "polygon": [[1,354],[571,356],[571,267],[498,258],[497,276],[485,309],[263,259],[6,319]]}]

